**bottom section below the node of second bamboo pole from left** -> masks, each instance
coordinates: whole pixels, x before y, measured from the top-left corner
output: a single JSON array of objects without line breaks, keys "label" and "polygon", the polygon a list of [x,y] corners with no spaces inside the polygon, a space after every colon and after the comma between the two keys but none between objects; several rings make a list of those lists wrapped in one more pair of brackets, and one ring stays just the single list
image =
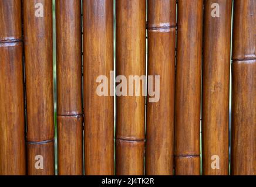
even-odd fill
[{"label": "bottom section below the node of second bamboo pole from left", "polygon": [[[55,175],[55,158],[52,156],[54,155],[54,141],[27,142],[26,148],[28,175]],[[42,159],[37,158],[38,155],[42,156]],[[38,165],[42,169],[36,168]]]}]

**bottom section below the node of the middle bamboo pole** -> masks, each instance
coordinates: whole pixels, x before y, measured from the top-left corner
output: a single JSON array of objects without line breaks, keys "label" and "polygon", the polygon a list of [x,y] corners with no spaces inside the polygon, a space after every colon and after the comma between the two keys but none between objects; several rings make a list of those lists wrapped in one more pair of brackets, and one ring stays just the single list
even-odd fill
[{"label": "bottom section below the node of the middle bamboo pole", "polygon": [[117,139],[116,165],[116,175],[143,175],[144,141]]}]

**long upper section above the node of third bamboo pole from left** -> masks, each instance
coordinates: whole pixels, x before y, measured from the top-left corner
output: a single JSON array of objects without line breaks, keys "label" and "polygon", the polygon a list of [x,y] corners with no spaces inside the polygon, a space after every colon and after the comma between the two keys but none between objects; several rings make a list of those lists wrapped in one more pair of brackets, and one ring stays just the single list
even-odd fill
[{"label": "long upper section above the node of third bamboo pole from left", "polygon": [[58,115],[82,115],[81,2],[56,1]]}]

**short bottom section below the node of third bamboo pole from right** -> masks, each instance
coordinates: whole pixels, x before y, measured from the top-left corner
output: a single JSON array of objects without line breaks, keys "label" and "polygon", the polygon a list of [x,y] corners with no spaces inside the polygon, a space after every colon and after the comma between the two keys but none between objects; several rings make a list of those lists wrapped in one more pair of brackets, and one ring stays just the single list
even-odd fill
[{"label": "short bottom section below the node of third bamboo pole from right", "polygon": [[175,175],[200,175],[200,156],[175,157]]}]

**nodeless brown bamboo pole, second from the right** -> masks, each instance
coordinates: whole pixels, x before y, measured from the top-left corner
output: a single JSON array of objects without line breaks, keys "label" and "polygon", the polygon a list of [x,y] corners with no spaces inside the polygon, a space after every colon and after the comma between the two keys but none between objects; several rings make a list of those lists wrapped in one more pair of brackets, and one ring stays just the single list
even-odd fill
[{"label": "nodeless brown bamboo pole, second from the right", "polygon": [[228,175],[231,9],[231,0],[204,1],[204,175]]}]

